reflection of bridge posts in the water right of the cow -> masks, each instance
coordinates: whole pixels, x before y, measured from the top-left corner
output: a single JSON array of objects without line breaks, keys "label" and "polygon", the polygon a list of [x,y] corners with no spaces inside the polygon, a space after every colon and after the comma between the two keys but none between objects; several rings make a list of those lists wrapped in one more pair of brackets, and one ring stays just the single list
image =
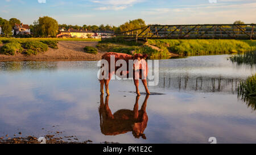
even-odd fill
[{"label": "reflection of bridge posts in the water right of the cow", "polygon": [[187,91],[237,93],[237,86],[242,79],[210,76],[172,75],[160,73],[158,87]]}]

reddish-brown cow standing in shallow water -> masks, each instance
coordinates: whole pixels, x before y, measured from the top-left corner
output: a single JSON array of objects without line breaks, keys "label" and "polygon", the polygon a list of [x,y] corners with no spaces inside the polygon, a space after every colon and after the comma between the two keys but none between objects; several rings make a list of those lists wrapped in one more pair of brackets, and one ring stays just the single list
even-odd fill
[{"label": "reddish-brown cow standing in shallow water", "polygon": [[[135,61],[135,62],[141,63],[142,60],[144,61],[147,58],[147,55],[141,55],[141,54],[135,54],[135,55],[132,56],[132,55],[127,55],[125,53],[114,53],[114,52],[105,53],[101,57],[101,60],[108,61],[108,64],[109,64],[109,74],[108,75],[109,76],[108,76],[108,79],[100,79],[101,94],[104,94],[104,84],[105,84],[106,94],[109,95],[109,81],[112,78],[112,76],[117,72],[117,70],[122,67],[122,65],[121,66],[115,66],[114,72],[111,73],[111,69],[110,69],[110,57],[111,56],[114,56],[114,58],[115,58],[114,64],[118,60],[125,60],[125,62],[127,64],[127,70],[126,70],[126,73],[122,72],[121,74],[122,74],[122,76],[126,76],[127,78],[130,78],[129,77],[129,75],[130,75],[129,74],[129,60],[138,60],[138,61]],[[147,88],[147,79],[146,78],[142,78],[142,73],[143,73],[143,77],[147,77],[147,72],[148,72],[147,62],[146,61],[144,61],[144,62],[146,63],[146,67],[145,68],[142,68],[141,64],[139,64],[139,66],[137,64],[135,64],[135,63],[133,64],[133,79],[134,79],[134,84],[136,86],[136,93],[138,95],[140,95],[140,93],[139,93],[139,79],[142,80],[142,83],[143,83],[143,85],[145,87],[146,93],[148,95],[150,95],[150,91]],[[139,71],[139,78],[135,78],[135,70]],[[143,70],[143,72],[142,72],[142,70]]]}]

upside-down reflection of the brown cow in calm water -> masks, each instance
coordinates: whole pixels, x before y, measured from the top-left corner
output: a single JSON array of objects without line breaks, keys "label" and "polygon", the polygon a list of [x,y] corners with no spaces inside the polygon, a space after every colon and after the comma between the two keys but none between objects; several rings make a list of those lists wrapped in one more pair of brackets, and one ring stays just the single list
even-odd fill
[{"label": "upside-down reflection of the brown cow in calm water", "polygon": [[148,97],[149,95],[146,95],[141,110],[139,110],[139,96],[137,96],[133,110],[122,109],[112,114],[109,108],[109,95],[106,96],[105,104],[104,97],[101,95],[99,107],[101,132],[104,135],[114,136],[132,131],[135,138],[142,137],[146,139],[143,132],[148,121],[146,112]]}]

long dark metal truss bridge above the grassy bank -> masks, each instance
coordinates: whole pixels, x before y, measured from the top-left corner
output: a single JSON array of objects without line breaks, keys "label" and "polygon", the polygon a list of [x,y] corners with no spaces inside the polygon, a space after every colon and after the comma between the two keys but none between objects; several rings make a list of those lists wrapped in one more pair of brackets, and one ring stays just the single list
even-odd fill
[{"label": "long dark metal truss bridge above the grassy bank", "polygon": [[147,39],[243,39],[254,40],[255,24],[148,25],[115,33],[109,38],[121,40]]}]

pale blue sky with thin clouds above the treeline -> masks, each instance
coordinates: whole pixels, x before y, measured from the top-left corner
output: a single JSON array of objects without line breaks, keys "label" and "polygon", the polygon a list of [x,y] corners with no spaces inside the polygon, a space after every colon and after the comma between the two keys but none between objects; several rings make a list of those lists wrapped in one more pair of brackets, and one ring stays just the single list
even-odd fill
[{"label": "pale blue sky with thin clouds above the treeline", "polygon": [[[43,2],[46,3],[43,3]],[[147,24],[256,23],[256,0],[1,0],[0,17],[32,24],[51,16],[60,24],[119,26],[142,18]]]}]

